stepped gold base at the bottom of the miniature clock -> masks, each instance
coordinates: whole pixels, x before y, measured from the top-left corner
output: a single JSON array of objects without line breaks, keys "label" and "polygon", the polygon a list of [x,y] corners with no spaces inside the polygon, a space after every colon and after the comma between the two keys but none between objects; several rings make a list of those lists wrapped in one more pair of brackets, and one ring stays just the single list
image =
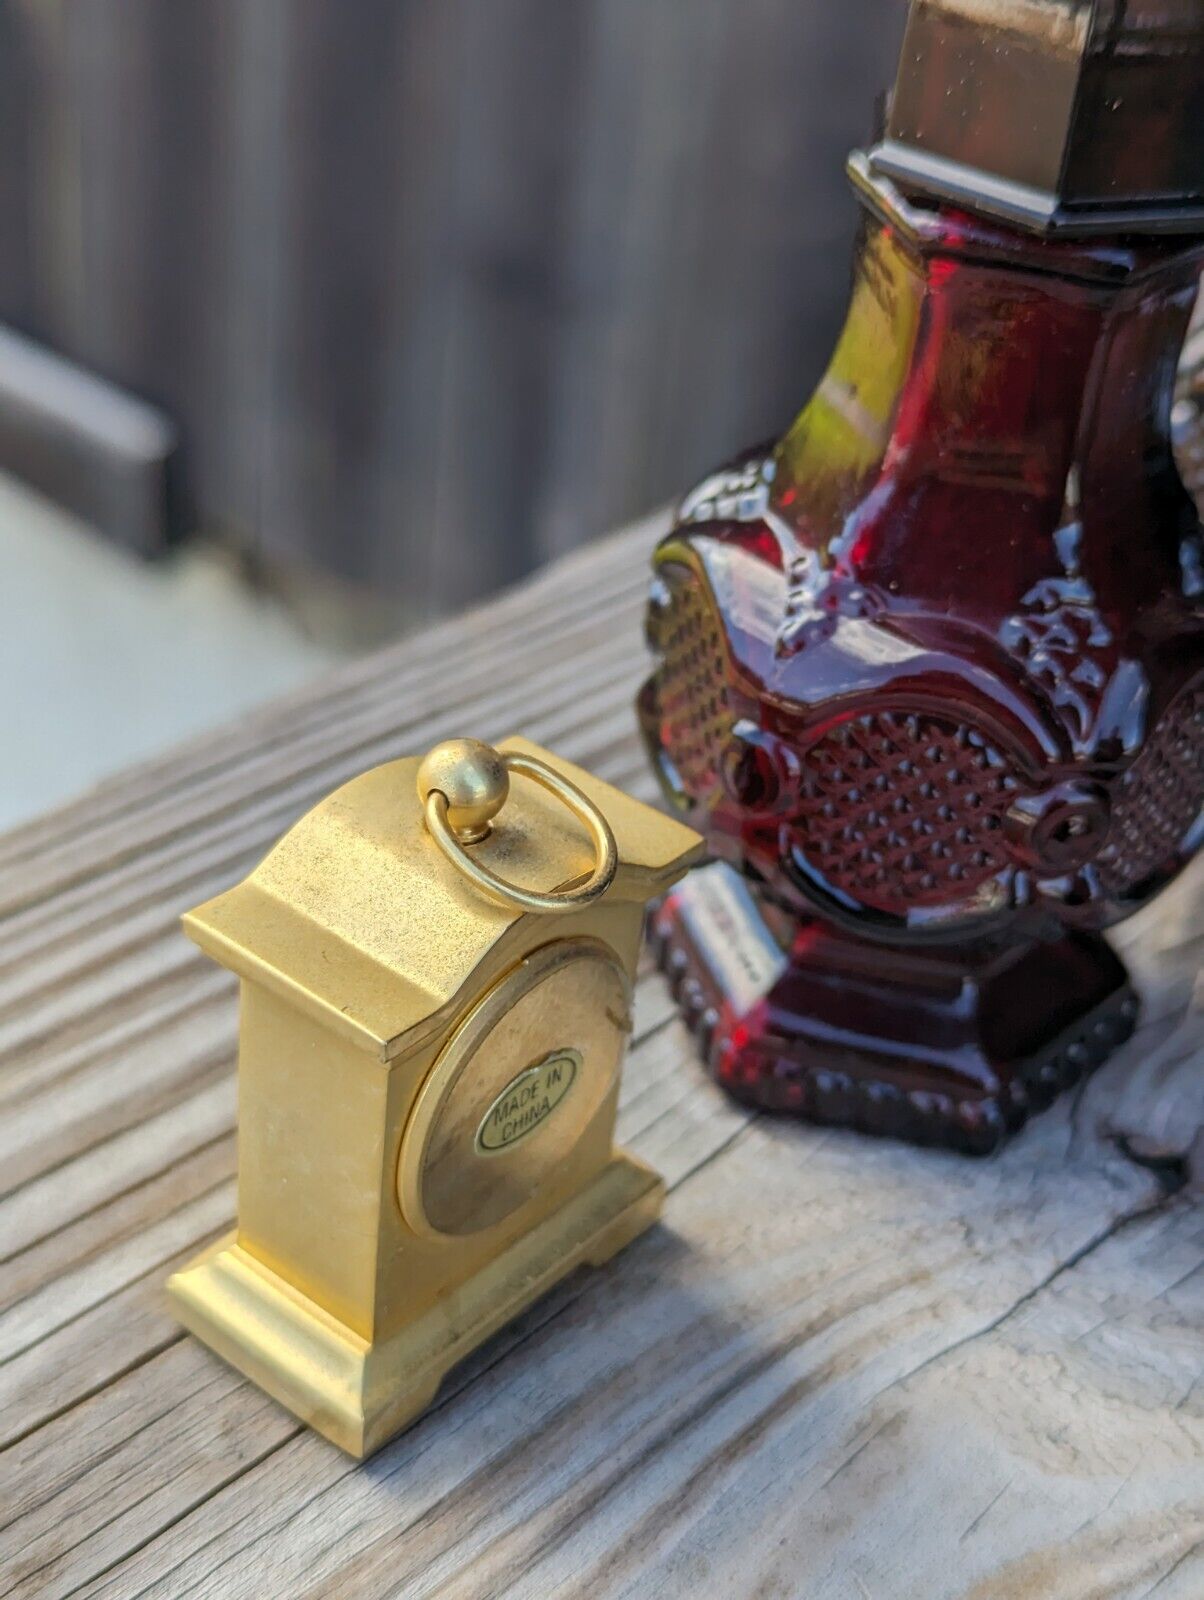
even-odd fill
[{"label": "stepped gold base at the bottom of the miniature clock", "polygon": [[168,1280],[171,1309],[218,1355],[352,1456],[370,1456],[434,1400],[447,1373],[580,1266],[650,1227],[664,1184],[616,1154],[599,1176],[466,1283],[370,1344],[240,1248],[213,1245]]}]

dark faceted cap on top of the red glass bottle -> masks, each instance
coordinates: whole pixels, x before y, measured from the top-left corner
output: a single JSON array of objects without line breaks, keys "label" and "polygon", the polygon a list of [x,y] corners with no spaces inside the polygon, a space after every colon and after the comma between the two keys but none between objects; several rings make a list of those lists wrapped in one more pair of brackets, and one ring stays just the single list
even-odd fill
[{"label": "dark faceted cap on top of the red glass bottle", "polygon": [[1204,0],[913,0],[871,165],[1034,232],[1204,234]]}]

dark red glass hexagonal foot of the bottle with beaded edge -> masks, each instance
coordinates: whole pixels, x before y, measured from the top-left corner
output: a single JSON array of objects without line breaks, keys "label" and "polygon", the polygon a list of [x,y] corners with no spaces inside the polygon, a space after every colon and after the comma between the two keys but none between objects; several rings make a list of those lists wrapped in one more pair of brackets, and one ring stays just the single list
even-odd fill
[{"label": "dark red glass hexagonal foot of the bottle with beaded edge", "polygon": [[1095,934],[873,946],[791,923],[714,864],[652,915],[652,946],[719,1083],[812,1122],[988,1155],[1134,1030]]}]

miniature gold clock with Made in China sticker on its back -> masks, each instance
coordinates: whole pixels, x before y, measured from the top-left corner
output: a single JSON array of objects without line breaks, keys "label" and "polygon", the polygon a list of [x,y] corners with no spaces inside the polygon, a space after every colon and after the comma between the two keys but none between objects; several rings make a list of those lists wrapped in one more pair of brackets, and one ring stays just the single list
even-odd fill
[{"label": "miniature gold clock with Made in China sticker on its back", "polygon": [[179,1320],[365,1456],[642,1232],[663,1184],[613,1146],[632,979],[700,850],[524,739],[458,739],[191,912],[242,979],[239,1226],[170,1280]]}]

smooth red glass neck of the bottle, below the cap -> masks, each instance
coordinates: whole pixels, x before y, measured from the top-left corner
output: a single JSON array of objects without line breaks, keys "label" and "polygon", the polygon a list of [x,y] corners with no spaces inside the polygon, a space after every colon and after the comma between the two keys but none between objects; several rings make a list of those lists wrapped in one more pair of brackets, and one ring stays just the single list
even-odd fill
[{"label": "smooth red glass neck of the bottle, below the cap", "polygon": [[1201,243],[1031,240],[884,184],[865,202],[844,331],[777,454],[773,509],[799,541],[932,600],[917,549],[948,594],[972,534],[993,544],[1005,606],[1066,523],[1098,544],[1148,539],[1158,501],[1153,536],[1177,562],[1194,514],[1170,405]]}]

